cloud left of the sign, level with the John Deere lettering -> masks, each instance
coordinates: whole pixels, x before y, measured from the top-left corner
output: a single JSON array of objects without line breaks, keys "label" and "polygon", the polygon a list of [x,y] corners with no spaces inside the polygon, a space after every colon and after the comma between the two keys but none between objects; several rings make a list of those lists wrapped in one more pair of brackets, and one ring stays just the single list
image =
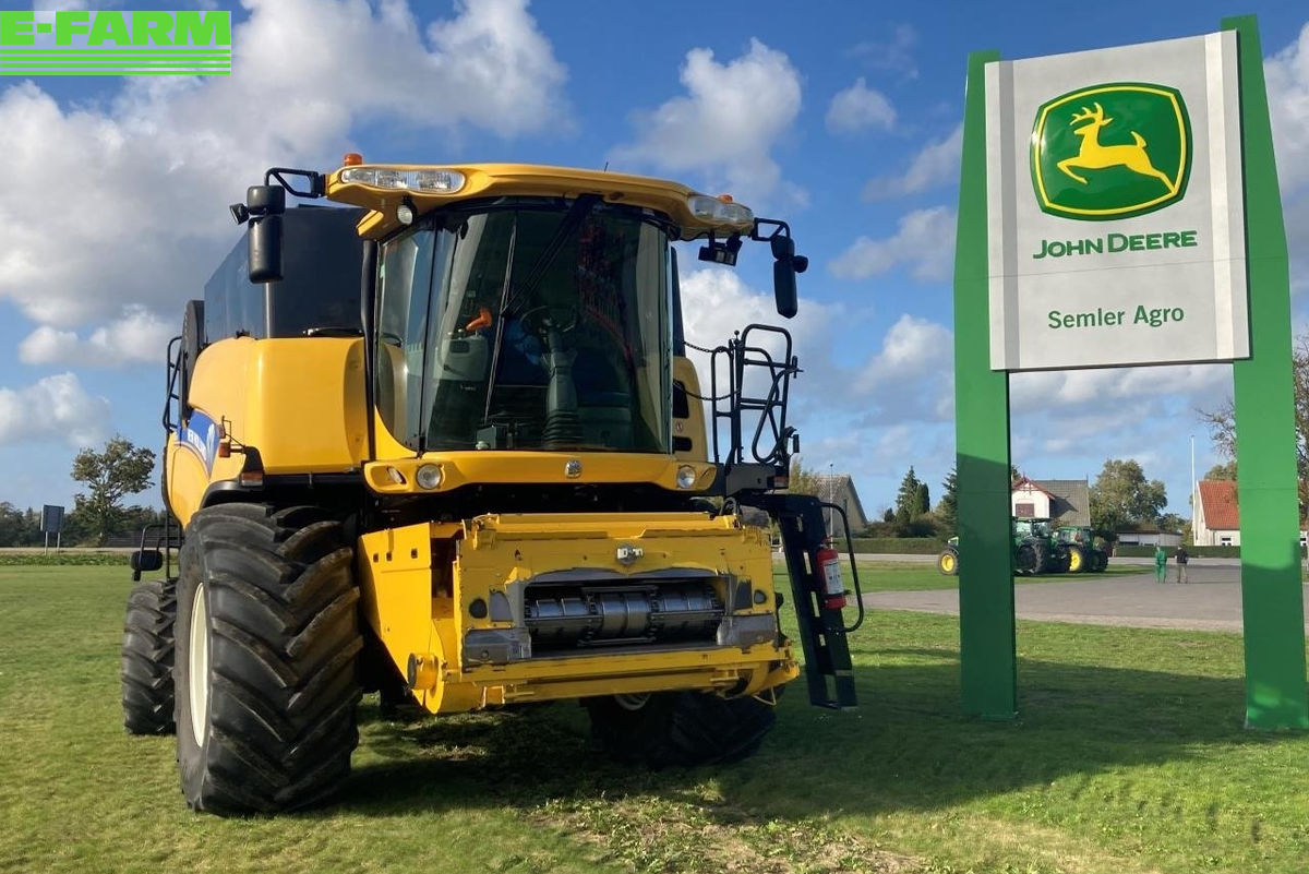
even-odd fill
[{"label": "cloud left of the sign, level with the John Deere lettering", "polygon": [[914,279],[932,283],[949,277],[953,260],[954,209],[932,207],[901,218],[891,237],[857,238],[827,268],[840,279],[868,279],[906,264]]}]

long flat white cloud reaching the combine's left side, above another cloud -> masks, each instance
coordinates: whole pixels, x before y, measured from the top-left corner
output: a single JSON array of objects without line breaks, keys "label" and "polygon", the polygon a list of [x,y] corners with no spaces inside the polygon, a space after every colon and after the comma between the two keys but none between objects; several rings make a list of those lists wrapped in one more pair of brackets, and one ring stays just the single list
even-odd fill
[{"label": "long flat white cloud reaching the combine's left side, above another cloud", "polygon": [[151,310],[132,305],[124,307],[119,318],[92,331],[85,340],[75,331],[42,324],[18,344],[18,360],[24,364],[98,368],[139,362],[162,366],[164,349],[177,331],[178,326],[165,324]]}]

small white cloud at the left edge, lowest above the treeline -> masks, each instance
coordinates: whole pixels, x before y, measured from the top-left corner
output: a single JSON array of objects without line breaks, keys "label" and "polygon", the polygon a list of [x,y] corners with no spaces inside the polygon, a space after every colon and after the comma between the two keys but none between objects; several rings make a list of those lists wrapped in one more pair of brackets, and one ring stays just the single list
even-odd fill
[{"label": "small white cloud at the left edge, lowest above the treeline", "polygon": [[76,374],[46,377],[25,389],[0,387],[0,446],[62,441],[90,446],[109,433],[109,402],[93,398]]}]

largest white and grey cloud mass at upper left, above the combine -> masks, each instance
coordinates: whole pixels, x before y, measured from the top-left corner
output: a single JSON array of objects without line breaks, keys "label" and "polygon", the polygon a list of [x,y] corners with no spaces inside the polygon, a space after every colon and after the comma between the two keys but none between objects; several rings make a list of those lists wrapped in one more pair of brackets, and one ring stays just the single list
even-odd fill
[{"label": "largest white and grey cloud mass at upper left, above the combine", "polygon": [[31,81],[0,92],[0,297],[62,330],[179,310],[236,238],[224,205],[268,166],[334,166],[364,123],[452,137],[569,123],[526,0],[456,3],[425,33],[403,0],[245,5],[230,76],[131,80],[77,106]]}]

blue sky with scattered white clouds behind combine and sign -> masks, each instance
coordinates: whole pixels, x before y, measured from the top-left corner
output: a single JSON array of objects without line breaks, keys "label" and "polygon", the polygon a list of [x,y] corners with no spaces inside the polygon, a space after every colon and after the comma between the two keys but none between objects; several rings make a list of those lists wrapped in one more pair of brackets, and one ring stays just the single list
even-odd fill
[{"label": "blue sky with scattered white clouds behind combine and sign", "polygon": [[[229,77],[0,79],[3,501],[71,505],[79,446],[114,433],[162,442],[164,343],[236,239],[226,204],[267,166],[327,170],[347,150],[607,162],[785,218],[812,263],[792,326],[804,463],[852,472],[870,513],[911,464],[935,501],[954,454],[949,277],[967,52],[1185,37],[1224,14],[1259,16],[1293,310],[1309,322],[1299,4],[203,5],[233,12]],[[682,284],[699,343],[771,310],[762,247],[734,272],[683,259]],[[1012,394],[1025,474],[1094,479],[1106,458],[1136,458],[1189,517],[1191,436],[1200,474],[1217,461],[1195,410],[1229,396],[1230,368],[1025,374]],[[158,502],[153,491],[140,500]]]}]

